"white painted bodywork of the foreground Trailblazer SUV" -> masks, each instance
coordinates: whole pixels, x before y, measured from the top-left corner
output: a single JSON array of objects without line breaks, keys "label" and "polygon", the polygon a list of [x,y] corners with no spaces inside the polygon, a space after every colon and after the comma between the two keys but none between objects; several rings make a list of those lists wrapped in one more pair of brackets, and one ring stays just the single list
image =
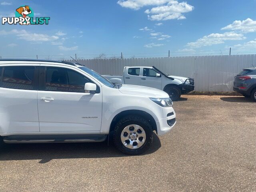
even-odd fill
[{"label": "white painted bodywork of the foreground Trailblazer SUV", "polygon": [[[27,65],[28,62],[8,62],[10,65]],[[150,98],[169,98],[166,92],[123,85],[112,88],[77,66],[51,62],[29,62],[30,66],[59,66],[75,70],[90,78],[99,93],[58,92],[44,90],[17,90],[0,87],[0,136],[22,134],[108,134],[114,117],[126,110],[141,110],[150,114],[158,135],[172,127],[167,120],[175,118],[172,107],[163,108]],[[140,78],[140,77],[139,77]],[[159,78],[160,79],[160,78]],[[167,118],[167,114],[174,114]]]}]

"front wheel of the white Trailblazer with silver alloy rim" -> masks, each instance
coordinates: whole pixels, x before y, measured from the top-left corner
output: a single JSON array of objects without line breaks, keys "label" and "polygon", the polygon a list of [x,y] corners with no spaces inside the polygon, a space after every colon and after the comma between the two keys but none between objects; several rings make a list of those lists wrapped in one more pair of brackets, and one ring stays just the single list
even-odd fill
[{"label": "front wheel of the white Trailblazer with silver alloy rim", "polygon": [[114,145],[128,155],[145,152],[153,141],[153,131],[148,121],[138,115],[120,119],[114,128]]}]

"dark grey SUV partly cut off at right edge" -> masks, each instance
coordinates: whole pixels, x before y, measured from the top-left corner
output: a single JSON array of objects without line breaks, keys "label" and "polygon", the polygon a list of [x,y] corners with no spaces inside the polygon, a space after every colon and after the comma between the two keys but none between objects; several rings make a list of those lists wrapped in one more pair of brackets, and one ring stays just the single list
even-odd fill
[{"label": "dark grey SUV partly cut off at right edge", "polygon": [[233,90],[256,101],[256,68],[243,69],[235,76]]}]

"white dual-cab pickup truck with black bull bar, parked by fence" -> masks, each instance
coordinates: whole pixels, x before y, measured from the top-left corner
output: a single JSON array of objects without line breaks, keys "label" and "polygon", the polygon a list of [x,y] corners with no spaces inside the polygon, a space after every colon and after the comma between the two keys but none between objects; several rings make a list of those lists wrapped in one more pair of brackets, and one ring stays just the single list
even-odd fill
[{"label": "white dual-cab pickup truck with black bull bar, parked by fence", "polygon": [[194,79],[170,76],[156,67],[124,67],[123,76],[103,75],[112,83],[131,84],[164,90],[172,100],[178,100],[181,94],[194,90]]}]

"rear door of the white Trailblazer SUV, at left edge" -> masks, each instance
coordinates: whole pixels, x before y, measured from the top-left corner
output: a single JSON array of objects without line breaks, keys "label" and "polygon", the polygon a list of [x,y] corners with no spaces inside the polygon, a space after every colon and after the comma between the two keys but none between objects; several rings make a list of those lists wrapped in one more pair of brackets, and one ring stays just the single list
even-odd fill
[{"label": "rear door of the white Trailblazer SUV, at left edge", "polygon": [[37,66],[0,67],[0,132],[39,132]]}]

